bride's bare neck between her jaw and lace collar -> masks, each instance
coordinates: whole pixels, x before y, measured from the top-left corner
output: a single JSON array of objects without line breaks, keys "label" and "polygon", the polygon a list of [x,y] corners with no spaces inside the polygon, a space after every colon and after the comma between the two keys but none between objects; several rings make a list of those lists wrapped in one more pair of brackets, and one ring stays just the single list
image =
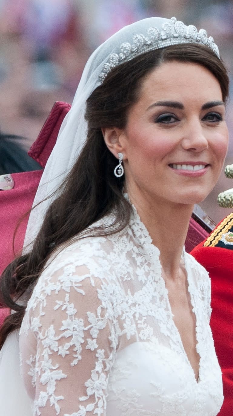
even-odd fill
[{"label": "bride's bare neck between her jaw and lace collar", "polygon": [[135,198],[129,193],[141,221],[146,226],[153,244],[160,250],[160,262],[165,275],[179,275],[184,242],[193,205],[170,204],[145,198]]}]

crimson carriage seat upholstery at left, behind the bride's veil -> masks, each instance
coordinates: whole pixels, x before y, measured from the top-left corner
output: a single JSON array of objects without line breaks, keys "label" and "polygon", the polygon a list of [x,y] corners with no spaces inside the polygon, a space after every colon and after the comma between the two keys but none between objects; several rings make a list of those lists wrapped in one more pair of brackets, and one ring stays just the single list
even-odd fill
[{"label": "crimson carriage seat upholstery at left, behind the bride's veil", "polygon": [[[42,167],[46,165],[49,155],[56,143],[61,123],[70,109],[70,104],[56,102],[46,120],[38,138],[32,145],[29,154]],[[20,253],[27,228],[28,215],[21,223],[19,220],[27,213],[35,197],[43,171],[12,173],[15,187],[8,191],[0,191],[0,274],[13,260],[15,254]],[[16,225],[19,223],[15,235],[13,250],[13,235]],[[0,310],[0,325],[5,319],[8,310]]]}]

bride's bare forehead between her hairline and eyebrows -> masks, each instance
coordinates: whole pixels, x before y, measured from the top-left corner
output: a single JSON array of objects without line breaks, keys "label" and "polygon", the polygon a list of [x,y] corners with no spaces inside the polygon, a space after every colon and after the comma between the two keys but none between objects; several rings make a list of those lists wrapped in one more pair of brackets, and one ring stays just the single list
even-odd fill
[{"label": "bride's bare forehead between her hairline and eyebrows", "polygon": [[191,62],[164,62],[142,80],[138,102],[174,99],[204,102],[222,100],[221,87],[214,75],[202,65]]}]

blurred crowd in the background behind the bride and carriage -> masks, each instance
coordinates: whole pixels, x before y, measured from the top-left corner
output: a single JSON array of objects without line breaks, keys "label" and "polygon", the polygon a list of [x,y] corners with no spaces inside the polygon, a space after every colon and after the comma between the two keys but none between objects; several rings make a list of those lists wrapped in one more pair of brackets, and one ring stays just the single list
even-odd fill
[{"label": "blurred crowd in the background behind the bride and carriage", "polygon": [[[214,37],[231,78],[226,164],[233,163],[232,0],[0,0],[0,141],[9,136],[28,150],[53,103],[72,102],[92,51],[121,27],[150,16],[175,16]],[[232,211],[217,205],[227,188],[233,181],[222,174],[201,203],[216,223]]]}]

